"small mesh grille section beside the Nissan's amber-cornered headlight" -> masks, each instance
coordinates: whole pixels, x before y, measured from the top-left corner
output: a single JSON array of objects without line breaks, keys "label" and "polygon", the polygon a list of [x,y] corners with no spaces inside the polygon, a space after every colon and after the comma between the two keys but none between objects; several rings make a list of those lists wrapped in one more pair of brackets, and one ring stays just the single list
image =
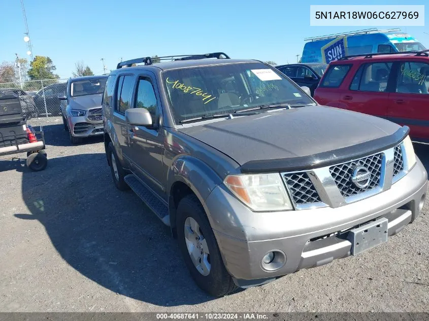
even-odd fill
[{"label": "small mesh grille section beside the Nissan's amber-cornered headlight", "polygon": [[289,188],[290,196],[296,205],[321,202],[306,172],[286,173],[283,177]]}]

